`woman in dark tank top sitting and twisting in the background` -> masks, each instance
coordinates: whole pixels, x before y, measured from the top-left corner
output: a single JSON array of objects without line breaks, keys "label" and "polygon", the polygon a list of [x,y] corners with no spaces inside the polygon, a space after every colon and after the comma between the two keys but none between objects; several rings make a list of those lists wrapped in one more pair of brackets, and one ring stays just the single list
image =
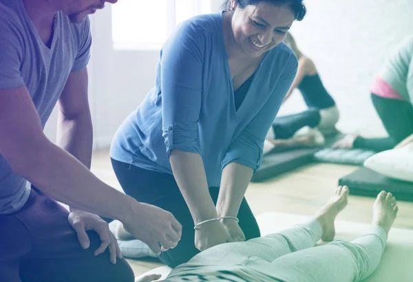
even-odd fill
[{"label": "woman in dark tank top sitting and twisting in the background", "polygon": [[322,134],[337,132],[335,124],[339,120],[339,111],[334,99],[324,88],[313,60],[298,49],[293,36],[288,32],[284,43],[290,47],[298,58],[297,75],[290,86],[284,102],[294,89],[299,89],[308,110],[295,115],[277,117],[270,128],[267,140],[276,148],[286,149],[301,146],[317,145],[315,136],[293,137],[300,128],[308,126],[317,128]]}]

